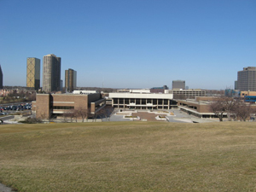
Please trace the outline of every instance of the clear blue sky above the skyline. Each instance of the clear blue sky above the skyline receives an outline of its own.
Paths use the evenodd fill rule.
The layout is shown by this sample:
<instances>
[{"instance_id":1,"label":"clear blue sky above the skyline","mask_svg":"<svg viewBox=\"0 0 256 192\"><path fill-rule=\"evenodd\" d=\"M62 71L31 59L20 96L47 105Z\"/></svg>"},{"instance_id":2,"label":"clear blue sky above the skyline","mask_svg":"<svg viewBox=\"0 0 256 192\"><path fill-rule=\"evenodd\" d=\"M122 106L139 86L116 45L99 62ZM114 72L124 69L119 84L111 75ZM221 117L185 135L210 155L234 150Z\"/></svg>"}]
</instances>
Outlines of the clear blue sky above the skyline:
<instances>
[{"instance_id":1,"label":"clear blue sky above the skyline","mask_svg":"<svg viewBox=\"0 0 256 192\"><path fill-rule=\"evenodd\" d=\"M256 66L255 0L0 0L3 85L26 86L26 57L61 57L78 86L234 88Z\"/></svg>"}]
</instances>

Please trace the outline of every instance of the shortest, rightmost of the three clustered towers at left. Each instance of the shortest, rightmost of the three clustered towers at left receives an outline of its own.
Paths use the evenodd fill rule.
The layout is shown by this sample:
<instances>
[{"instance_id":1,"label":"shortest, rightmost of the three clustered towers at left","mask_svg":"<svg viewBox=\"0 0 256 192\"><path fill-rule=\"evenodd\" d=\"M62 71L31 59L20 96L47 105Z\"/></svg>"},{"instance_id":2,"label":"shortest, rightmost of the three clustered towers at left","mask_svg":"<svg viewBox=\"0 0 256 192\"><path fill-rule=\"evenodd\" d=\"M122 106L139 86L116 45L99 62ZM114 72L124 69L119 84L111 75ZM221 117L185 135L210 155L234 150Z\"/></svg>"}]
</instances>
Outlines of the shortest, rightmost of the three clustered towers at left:
<instances>
[{"instance_id":1,"label":"shortest, rightmost of the three clustered towers at left","mask_svg":"<svg viewBox=\"0 0 256 192\"><path fill-rule=\"evenodd\" d=\"M72 92L77 87L77 72L72 68L65 70L65 89Z\"/></svg>"}]
</instances>

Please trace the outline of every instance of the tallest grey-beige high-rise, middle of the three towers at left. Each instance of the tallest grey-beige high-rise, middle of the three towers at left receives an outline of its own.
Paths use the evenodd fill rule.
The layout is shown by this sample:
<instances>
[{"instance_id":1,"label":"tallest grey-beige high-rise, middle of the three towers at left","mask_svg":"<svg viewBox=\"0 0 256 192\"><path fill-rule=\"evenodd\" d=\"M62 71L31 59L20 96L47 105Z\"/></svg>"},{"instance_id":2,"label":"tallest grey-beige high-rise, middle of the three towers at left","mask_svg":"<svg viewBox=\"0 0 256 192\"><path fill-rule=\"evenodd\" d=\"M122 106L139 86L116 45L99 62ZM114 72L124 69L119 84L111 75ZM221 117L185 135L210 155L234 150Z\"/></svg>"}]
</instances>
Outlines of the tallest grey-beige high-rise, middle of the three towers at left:
<instances>
[{"instance_id":1,"label":"tallest grey-beige high-rise, middle of the three towers at left","mask_svg":"<svg viewBox=\"0 0 256 192\"><path fill-rule=\"evenodd\" d=\"M43 90L61 90L61 57L49 54L43 58Z\"/></svg>"}]
</instances>

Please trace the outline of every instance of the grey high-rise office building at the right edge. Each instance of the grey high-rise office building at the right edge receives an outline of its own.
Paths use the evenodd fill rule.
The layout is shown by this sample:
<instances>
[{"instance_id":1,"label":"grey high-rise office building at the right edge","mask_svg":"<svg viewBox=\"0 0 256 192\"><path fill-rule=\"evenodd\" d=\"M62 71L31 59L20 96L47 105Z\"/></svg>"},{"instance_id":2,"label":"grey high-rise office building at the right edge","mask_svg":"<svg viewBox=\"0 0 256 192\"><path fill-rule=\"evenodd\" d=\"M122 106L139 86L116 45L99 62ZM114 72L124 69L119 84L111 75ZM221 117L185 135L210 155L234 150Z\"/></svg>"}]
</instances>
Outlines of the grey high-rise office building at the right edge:
<instances>
[{"instance_id":1,"label":"grey high-rise office building at the right edge","mask_svg":"<svg viewBox=\"0 0 256 192\"><path fill-rule=\"evenodd\" d=\"M256 91L256 67L243 67L237 72L237 90Z\"/></svg>"}]
</instances>

